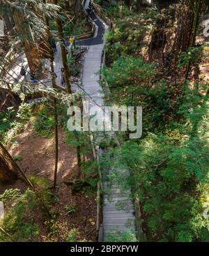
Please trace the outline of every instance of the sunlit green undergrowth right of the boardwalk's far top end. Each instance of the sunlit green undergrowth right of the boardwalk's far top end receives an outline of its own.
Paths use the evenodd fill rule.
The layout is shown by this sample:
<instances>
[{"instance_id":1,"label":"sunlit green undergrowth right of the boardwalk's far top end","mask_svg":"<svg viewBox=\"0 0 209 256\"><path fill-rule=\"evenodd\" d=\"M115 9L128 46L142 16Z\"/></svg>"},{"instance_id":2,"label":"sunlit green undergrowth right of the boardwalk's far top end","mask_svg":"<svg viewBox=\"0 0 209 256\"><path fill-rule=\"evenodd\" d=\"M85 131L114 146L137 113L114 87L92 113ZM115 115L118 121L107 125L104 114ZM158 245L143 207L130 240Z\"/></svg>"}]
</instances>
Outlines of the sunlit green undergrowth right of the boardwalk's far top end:
<instances>
[{"instance_id":1,"label":"sunlit green undergrowth right of the boardwalk's far top end","mask_svg":"<svg viewBox=\"0 0 209 256\"><path fill-rule=\"evenodd\" d=\"M157 10L150 8L134 12L121 6L121 3L108 4L105 13L112 20L114 26L106 34L107 64L113 63L118 57L131 55L139 57L141 48L148 47L143 42L146 31L151 31L157 19Z\"/></svg>"}]
</instances>

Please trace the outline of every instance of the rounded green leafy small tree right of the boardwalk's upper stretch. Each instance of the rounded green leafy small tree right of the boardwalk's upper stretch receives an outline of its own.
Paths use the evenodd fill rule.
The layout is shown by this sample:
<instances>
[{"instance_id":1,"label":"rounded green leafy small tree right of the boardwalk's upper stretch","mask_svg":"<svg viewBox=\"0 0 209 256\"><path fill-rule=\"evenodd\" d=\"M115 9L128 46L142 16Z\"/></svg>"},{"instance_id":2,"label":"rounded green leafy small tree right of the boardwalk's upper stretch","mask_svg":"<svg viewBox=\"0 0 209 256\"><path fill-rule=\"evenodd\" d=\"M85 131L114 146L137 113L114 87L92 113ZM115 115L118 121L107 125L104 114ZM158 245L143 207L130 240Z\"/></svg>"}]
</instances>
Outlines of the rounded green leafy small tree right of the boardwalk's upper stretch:
<instances>
[{"instance_id":1,"label":"rounded green leafy small tree right of the boardwalk's upper stretch","mask_svg":"<svg viewBox=\"0 0 209 256\"><path fill-rule=\"evenodd\" d=\"M153 65L134 57L119 57L110 68L102 70L104 80L114 90L111 99L117 104L137 105L141 90L146 90L155 72Z\"/></svg>"}]
</instances>

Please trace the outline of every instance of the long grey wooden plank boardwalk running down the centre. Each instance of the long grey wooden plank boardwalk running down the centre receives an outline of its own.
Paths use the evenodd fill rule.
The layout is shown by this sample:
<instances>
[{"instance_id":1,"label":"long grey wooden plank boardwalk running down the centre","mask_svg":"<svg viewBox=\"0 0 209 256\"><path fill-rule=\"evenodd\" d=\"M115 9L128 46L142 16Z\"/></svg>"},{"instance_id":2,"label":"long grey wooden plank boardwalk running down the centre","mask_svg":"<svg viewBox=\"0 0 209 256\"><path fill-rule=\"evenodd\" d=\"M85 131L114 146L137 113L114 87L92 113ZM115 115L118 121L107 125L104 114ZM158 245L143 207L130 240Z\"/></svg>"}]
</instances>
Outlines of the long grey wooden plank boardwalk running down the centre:
<instances>
[{"instance_id":1,"label":"long grey wooden plank boardwalk running down the centre","mask_svg":"<svg viewBox=\"0 0 209 256\"><path fill-rule=\"evenodd\" d=\"M93 20L95 17L93 16ZM104 26L102 22L97 19L95 20L97 25L100 27ZM104 31L104 29L103 29ZM88 52L84 57L84 71L82 78L82 85L86 91L85 99L91 101L91 106L101 106L103 109L104 106L104 94L102 93L102 87L100 87L100 66L102 63L102 51L104 48L104 43L98 44L98 41L101 40L102 34L92 39L90 43ZM98 38L101 37L101 38ZM94 40L97 38L98 40ZM85 42L83 42L85 43ZM89 45L89 40L88 40ZM102 117L101 117L102 118ZM101 136L95 138L96 141L100 141ZM108 176L111 171L109 170L106 173L103 173L104 176ZM119 169L118 175L128 176L129 171L124 169ZM117 182L111 181L111 183L103 183L104 187L104 197L103 197L103 225L102 225L102 241L107 241L109 234L112 234L113 231L119 232L135 232L135 216L134 216L134 205L131 197L131 190L127 188L125 191L122 191L118 186ZM123 203L123 207L118 208L118 205Z\"/></svg>"}]
</instances>

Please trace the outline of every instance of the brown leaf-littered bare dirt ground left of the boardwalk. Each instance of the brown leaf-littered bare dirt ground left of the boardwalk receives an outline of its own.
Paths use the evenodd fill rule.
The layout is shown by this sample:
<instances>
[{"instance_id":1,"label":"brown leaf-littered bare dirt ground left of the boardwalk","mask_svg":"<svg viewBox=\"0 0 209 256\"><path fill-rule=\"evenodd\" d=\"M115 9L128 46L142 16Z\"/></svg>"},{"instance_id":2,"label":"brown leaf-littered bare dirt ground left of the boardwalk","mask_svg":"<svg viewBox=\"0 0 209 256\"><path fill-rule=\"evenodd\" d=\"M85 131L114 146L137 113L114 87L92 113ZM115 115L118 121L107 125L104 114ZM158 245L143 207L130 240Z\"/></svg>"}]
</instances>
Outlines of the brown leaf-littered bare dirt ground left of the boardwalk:
<instances>
[{"instance_id":1,"label":"brown leaf-littered bare dirt ground left of the boardwalk","mask_svg":"<svg viewBox=\"0 0 209 256\"><path fill-rule=\"evenodd\" d=\"M29 176L41 176L47 178L51 183L54 178L54 138L44 138L36 134L31 125L26 126L24 131L15 139L17 143L10 148L10 154L21 156L17 161L22 171ZM96 218L96 193L87 195L84 191L72 194L71 187L63 183L63 178L71 176L73 171L77 171L77 152L75 148L65 143L65 134L59 129L59 169L56 183L56 204L54 208L59 212L58 220L68 231L72 228L79 229L81 239L95 241L95 218ZM1 185L0 194L9 188L19 188L24 191L26 185L22 180L17 180L15 184ZM74 202L76 204L75 213L68 214L65 206ZM41 219L41 217L39 218ZM37 220L38 222L42 220ZM39 226L44 226L43 223ZM65 229L65 227L63 227ZM46 235L42 228L42 236ZM42 238L38 238L42 241Z\"/></svg>"}]
</instances>

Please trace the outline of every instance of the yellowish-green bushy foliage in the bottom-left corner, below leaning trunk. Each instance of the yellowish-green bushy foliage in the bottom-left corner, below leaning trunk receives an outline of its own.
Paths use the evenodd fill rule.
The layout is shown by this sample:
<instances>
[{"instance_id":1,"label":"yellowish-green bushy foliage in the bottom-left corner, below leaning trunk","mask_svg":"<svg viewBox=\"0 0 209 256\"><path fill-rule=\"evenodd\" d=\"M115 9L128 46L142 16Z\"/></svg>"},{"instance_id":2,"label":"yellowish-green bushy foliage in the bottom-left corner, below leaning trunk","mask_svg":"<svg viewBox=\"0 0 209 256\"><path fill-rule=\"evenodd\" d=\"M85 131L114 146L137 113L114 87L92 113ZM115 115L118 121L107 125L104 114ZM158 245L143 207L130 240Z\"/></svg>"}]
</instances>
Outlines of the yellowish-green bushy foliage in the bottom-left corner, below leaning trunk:
<instances>
[{"instance_id":1,"label":"yellowish-green bushy foliage in the bottom-left corner, below leaning trunk","mask_svg":"<svg viewBox=\"0 0 209 256\"><path fill-rule=\"evenodd\" d=\"M6 206L11 206L6 211L1 227L10 235L0 232L0 241L35 241L38 235L38 226L34 224L34 211L37 207L35 195L31 190L21 194L20 190L6 190L1 194L1 200Z\"/></svg>"}]
</instances>

